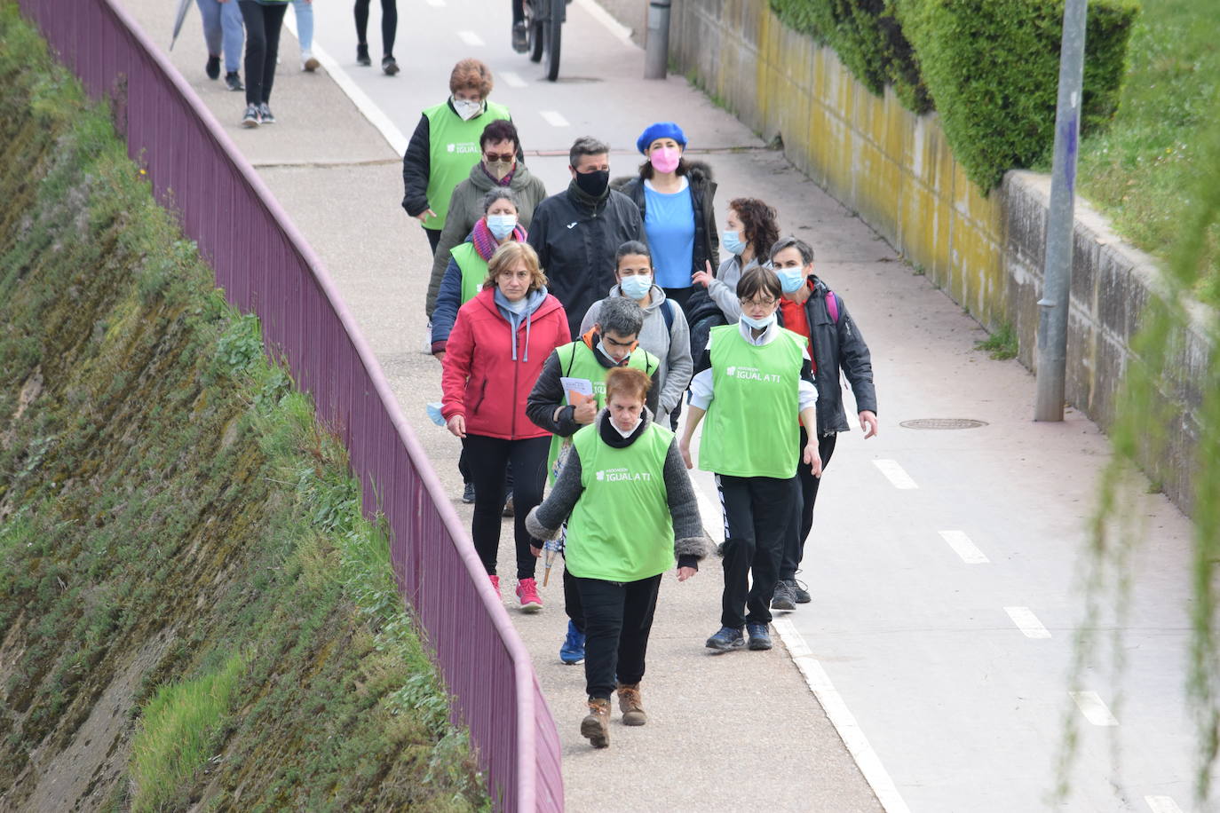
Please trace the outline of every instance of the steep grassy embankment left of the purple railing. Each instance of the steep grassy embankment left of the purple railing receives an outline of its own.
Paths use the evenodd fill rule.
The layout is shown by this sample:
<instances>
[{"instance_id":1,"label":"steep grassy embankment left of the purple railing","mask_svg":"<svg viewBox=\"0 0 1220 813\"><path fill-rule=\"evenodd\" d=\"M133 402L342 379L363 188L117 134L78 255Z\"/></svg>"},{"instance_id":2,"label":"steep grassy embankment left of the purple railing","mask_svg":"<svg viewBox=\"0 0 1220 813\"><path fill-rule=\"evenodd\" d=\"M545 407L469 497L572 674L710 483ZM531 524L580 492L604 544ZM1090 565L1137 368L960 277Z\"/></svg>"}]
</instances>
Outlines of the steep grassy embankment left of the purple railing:
<instances>
[{"instance_id":1,"label":"steep grassy embankment left of the purple railing","mask_svg":"<svg viewBox=\"0 0 1220 813\"><path fill-rule=\"evenodd\" d=\"M342 450L11 2L0 358L0 807L487 807Z\"/></svg>"}]
</instances>

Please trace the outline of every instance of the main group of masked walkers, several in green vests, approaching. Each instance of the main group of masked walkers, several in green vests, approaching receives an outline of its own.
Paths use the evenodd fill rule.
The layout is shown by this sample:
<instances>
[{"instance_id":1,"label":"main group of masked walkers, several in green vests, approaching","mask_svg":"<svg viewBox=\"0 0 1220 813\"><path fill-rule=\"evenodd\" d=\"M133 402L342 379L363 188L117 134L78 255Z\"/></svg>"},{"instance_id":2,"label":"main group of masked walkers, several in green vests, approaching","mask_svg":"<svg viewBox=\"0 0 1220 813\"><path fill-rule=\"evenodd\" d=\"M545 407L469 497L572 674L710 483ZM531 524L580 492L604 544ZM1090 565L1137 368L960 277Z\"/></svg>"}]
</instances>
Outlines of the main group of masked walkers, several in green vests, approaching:
<instances>
[{"instance_id":1,"label":"main group of masked walkers, several in green vests, approaching","mask_svg":"<svg viewBox=\"0 0 1220 813\"><path fill-rule=\"evenodd\" d=\"M604 747L615 695L625 724L647 722L661 574L686 581L710 552L687 472L698 427L725 523L706 647L767 650L771 609L810 601L797 574L849 429L841 377L865 436L877 433L872 367L813 247L780 236L773 207L734 199L717 230L711 168L686 157L678 124L647 127L638 172L614 183L610 147L576 139L567 188L547 196L492 87L477 60L454 67L404 155L403 206L433 250L431 349L475 547L499 592L500 518L514 516L523 612L542 609L538 559L560 549L560 658L584 663L581 731Z\"/></svg>"}]
</instances>

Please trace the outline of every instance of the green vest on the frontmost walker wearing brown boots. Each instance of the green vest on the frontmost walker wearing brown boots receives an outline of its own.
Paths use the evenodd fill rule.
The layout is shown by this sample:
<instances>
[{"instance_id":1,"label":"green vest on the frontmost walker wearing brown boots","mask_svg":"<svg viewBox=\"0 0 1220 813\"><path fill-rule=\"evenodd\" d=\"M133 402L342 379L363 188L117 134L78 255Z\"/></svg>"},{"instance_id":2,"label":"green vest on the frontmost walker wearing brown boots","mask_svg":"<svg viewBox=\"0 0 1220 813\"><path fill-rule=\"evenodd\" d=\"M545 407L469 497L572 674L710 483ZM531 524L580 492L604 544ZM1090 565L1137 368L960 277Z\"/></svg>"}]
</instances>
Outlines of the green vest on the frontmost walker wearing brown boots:
<instances>
[{"instance_id":1,"label":"green vest on the frontmost walker wearing brown boots","mask_svg":"<svg viewBox=\"0 0 1220 813\"><path fill-rule=\"evenodd\" d=\"M673 564L673 517L665 488L672 442L673 433L655 423L625 449L601 440L595 424L572 435L584 488L567 520L564 567L572 575L638 581Z\"/></svg>"}]
</instances>

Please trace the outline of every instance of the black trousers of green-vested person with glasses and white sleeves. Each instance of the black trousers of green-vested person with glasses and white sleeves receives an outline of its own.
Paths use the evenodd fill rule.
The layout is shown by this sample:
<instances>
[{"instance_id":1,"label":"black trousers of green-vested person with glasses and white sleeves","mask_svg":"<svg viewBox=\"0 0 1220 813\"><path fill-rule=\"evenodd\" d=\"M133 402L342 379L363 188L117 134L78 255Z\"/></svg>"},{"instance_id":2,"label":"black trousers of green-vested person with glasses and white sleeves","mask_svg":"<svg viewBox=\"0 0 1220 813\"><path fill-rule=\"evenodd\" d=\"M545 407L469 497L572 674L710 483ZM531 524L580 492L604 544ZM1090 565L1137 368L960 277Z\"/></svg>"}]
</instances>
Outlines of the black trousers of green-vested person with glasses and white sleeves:
<instances>
[{"instance_id":1,"label":"black trousers of green-vested person with glasses and white sleeves","mask_svg":"<svg viewBox=\"0 0 1220 813\"><path fill-rule=\"evenodd\" d=\"M797 478L717 474L716 488L725 511L725 592L720 623L733 629L767 624L784 539L797 512L800 494Z\"/></svg>"}]
</instances>

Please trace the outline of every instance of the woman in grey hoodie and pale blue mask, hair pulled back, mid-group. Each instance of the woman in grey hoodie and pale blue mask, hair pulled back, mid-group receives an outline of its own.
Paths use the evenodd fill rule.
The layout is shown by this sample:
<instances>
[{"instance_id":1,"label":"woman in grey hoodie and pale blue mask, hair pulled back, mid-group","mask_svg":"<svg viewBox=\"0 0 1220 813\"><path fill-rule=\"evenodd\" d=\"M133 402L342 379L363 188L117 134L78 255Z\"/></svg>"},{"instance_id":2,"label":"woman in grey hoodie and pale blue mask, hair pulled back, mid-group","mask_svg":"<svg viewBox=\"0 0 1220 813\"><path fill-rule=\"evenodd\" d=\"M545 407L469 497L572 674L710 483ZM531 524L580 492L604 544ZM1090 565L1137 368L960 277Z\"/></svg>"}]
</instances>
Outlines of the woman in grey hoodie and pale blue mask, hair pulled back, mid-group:
<instances>
[{"instance_id":1,"label":"woman in grey hoodie and pale blue mask, hair pulled back, mid-group","mask_svg":"<svg viewBox=\"0 0 1220 813\"><path fill-rule=\"evenodd\" d=\"M672 429L670 413L682 402L682 394L686 392L691 374L694 372L686 316L654 282L651 255L643 243L632 240L619 246L615 266L619 282L610 289L609 296L633 300L644 311L639 346L661 362L656 375L660 388L656 399L656 423ZM604 301L598 300L589 307L581 321L582 334L598 323Z\"/></svg>"}]
</instances>

